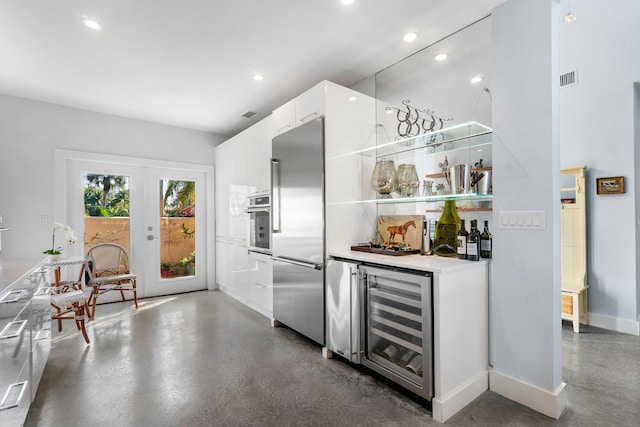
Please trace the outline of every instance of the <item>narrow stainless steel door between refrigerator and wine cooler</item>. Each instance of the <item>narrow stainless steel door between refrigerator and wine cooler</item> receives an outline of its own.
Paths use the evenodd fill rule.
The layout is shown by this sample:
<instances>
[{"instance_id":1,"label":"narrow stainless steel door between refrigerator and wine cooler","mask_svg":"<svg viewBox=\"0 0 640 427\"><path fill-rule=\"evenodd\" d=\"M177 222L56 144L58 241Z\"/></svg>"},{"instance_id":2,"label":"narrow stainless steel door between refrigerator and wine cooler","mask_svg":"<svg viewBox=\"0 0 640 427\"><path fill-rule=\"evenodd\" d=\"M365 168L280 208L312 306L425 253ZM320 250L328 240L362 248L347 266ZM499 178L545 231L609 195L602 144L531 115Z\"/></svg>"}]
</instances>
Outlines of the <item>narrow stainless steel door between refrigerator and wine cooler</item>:
<instances>
[{"instance_id":1,"label":"narrow stainless steel door between refrigerator and wine cooler","mask_svg":"<svg viewBox=\"0 0 640 427\"><path fill-rule=\"evenodd\" d=\"M330 259L326 270L326 347L360 363L358 264Z\"/></svg>"}]
</instances>

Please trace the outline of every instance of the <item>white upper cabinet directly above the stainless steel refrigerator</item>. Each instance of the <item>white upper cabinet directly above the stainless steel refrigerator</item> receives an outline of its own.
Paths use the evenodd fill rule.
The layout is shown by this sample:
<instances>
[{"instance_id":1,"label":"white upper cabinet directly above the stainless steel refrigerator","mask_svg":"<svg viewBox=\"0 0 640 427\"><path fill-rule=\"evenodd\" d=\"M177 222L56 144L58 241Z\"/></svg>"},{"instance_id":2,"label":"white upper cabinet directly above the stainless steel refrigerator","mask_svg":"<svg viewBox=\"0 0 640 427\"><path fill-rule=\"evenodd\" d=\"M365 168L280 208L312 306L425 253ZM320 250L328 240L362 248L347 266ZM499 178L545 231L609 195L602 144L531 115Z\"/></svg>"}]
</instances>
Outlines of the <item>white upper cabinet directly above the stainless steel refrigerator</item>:
<instances>
[{"instance_id":1,"label":"white upper cabinet directly above the stainless steel refrigerator","mask_svg":"<svg viewBox=\"0 0 640 427\"><path fill-rule=\"evenodd\" d=\"M281 107L273 110L271 136L280 135L325 112L325 82L321 82Z\"/></svg>"}]
</instances>

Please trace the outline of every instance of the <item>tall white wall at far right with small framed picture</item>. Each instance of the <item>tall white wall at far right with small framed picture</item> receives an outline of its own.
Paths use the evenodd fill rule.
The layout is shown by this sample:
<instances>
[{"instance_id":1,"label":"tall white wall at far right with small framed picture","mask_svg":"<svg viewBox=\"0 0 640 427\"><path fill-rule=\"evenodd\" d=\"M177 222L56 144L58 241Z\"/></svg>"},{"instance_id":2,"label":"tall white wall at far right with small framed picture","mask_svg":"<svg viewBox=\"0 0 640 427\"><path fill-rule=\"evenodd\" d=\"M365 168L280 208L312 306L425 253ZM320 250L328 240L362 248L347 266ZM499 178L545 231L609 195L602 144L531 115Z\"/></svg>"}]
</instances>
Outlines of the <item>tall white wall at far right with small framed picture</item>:
<instances>
[{"instance_id":1,"label":"tall white wall at far right with small framed picture","mask_svg":"<svg viewBox=\"0 0 640 427\"><path fill-rule=\"evenodd\" d=\"M566 13L566 3L561 7ZM580 0L571 9L577 19L560 28L560 72L577 67L578 84L560 90L560 159L561 166L588 168L589 323L637 335L634 82L640 81L640 2ZM596 194L596 178L620 175L625 194Z\"/></svg>"}]
</instances>

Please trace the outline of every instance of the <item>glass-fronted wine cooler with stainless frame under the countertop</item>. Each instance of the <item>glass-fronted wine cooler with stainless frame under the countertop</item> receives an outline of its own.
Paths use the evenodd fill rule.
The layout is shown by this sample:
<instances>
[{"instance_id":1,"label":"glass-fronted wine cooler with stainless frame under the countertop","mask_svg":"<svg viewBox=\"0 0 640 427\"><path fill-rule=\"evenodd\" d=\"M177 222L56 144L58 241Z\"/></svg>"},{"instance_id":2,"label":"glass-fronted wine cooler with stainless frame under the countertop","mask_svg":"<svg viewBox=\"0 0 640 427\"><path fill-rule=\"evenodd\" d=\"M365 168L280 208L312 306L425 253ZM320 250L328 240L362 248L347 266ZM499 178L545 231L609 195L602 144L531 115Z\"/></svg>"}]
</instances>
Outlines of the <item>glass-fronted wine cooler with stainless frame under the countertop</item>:
<instances>
[{"instance_id":1,"label":"glass-fronted wine cooler with stainless frame under the countertop","mask_svg":"<svg viewBox=\"0 0 640 427\"><path fill-rule=\"evenodd\" d=\"M432 274L360 266L361 363L410 392L433 397Z\"/></svg>"}]
</instances>

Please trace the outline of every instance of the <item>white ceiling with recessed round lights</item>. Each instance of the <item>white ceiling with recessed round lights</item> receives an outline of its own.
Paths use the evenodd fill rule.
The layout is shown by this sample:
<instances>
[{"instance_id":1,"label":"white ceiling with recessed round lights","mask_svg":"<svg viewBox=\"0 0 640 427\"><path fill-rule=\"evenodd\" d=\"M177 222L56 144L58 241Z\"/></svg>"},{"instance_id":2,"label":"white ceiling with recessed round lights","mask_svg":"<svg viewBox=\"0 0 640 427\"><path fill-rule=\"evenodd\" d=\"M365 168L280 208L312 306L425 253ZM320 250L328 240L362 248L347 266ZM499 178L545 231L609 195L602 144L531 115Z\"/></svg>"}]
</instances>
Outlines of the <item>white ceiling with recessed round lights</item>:
<instances>
[{"instance_id":1,"label":"white ceiling with recessed round lights","mask_svg":"<svg viewBox=\"0 0 640 427\"><path fill-rule=\"evenodd\" d=\"M321 80L352 86L504 1L2 1L0 93L231 136Z\"/></svg>"}]
</instances>

